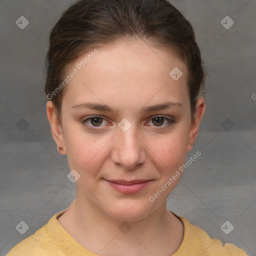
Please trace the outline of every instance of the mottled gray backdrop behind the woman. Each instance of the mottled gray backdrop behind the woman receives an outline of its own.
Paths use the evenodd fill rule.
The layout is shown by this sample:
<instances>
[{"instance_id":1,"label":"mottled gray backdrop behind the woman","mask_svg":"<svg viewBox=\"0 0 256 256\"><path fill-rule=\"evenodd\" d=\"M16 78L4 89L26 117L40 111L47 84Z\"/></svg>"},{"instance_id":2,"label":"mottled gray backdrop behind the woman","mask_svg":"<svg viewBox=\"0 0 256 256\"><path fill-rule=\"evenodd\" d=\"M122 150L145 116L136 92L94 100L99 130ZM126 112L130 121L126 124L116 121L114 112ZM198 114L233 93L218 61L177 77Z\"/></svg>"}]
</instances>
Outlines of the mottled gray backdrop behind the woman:
<instances>
[{"instance_id":1,"label":"mottled gray backdrop behind the woman","mask_svg":"<svg viewBox=\"0 0 256 256\"><path fill-rule=\"evenodd\" d=\"M49 29L71 2L0 0L0 256L75 198L43 95ZM171 2L193 25L208 76L205 115L187 159L201 155L167 207L256 255L256 1ZM15 23L22 15L29 21L24 29ZM234 21L229 29L220 23L225 16ZM15 229L21 220L29 226L24 234ZM220 228L226 220L234 226L229 234Z\"/></svg>"}]
</instances>

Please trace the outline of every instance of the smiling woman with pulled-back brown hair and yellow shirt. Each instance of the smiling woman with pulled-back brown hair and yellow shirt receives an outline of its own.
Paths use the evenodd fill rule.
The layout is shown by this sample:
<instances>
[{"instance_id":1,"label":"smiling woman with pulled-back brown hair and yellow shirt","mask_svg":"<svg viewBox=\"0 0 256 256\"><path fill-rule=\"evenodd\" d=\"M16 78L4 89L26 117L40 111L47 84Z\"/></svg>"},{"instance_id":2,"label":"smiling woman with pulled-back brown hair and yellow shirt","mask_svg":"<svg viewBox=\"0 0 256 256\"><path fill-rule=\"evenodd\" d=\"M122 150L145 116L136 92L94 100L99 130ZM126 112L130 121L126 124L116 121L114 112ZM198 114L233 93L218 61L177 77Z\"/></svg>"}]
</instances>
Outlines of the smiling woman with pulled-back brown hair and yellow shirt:
<instances>
[{"instance_id":1,"label":"smiling woman with pulled-back brown hair and yellow shirt","mask_svg":"<svg viewBox=\"0 0 256 256\"><path fill-rule=\"evenodd\" d=\"M246 255L166 209L204 76L193 28L168 1L71 5L50 34L45 93L76 198L7 256Z\"/></svg>"}]
</instances>

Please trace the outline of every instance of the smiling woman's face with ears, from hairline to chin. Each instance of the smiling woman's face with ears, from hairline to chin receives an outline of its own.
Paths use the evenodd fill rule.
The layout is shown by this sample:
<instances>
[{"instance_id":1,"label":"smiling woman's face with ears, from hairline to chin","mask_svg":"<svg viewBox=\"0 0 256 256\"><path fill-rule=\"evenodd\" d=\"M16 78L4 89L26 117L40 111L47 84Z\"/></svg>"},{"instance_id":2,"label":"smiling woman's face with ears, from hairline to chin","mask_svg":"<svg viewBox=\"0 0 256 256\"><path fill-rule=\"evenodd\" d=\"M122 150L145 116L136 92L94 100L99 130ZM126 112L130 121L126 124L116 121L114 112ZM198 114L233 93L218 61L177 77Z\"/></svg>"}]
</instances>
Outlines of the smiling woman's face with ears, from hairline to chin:
<instances>
[{"instance_id":1,"label":"smiling woman's face with ears, from hairline to chin","mask_svg":"<svg viewBox=\"0 0 256 256\"><path fill-rule=\"evenodd\" d=\"M70 170L79 173L76 184L86 203L120 220L140 219L165 202L181 177L153 196L185 162L203 100L191 122L187 69L167 49L141 41L104 45L90 54L93 49L69 66L67 74L74 68L77 73L65 87L61 124L47 103L53 138ZM178 79L169 75L174 67L182 71ZM118 189L108 182L138 179L150 181Z\"/></svg>"}]
</instances>

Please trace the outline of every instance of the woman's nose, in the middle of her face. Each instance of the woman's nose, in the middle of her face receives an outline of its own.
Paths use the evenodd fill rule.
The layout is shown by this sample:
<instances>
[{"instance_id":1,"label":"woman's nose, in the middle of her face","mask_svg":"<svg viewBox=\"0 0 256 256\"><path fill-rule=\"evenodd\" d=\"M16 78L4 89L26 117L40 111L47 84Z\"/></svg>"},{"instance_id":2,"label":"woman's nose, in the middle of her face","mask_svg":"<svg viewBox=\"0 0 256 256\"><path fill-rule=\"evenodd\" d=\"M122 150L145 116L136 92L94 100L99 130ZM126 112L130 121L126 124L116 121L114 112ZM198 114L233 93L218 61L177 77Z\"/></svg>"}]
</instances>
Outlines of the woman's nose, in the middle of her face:
<instances>
[{"instance_id":1,"label":"woman's nose, in the middle of her face","mask_svg":"<svg viewBox=\"0 0 256 256\"><path fill-rule=\"evenodd\" d=\"M137 133L135 125L131 125L126 131L117 127L117 133L113 137L111 159L125 169L133 169L145 162L146 146Z\"/></svg>"}]
</instances>

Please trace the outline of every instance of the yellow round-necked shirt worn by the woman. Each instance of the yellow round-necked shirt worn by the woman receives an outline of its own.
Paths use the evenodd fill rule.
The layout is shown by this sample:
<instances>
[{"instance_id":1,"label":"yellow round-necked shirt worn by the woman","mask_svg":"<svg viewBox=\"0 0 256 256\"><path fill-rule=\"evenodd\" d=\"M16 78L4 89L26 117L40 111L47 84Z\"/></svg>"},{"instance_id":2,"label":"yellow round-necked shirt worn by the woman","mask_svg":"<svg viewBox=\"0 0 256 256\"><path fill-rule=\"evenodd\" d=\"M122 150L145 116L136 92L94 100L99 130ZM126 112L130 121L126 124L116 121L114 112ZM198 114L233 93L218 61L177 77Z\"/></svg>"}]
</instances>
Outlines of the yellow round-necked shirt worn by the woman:
<instances>
[{"instance_id":1,"label":"yellow round-necked shirt worn by the woman","mask_svg":"<svg viewBox=\"0 0 256 256\"><path fill-rule=\"evenodd\" d=\"M48 223L17 243L6 256L98 255L84 248L60 225L57 217L63 212L64 210L53 215ZM184 235L178 250L172 256L247 256L233 244L226 243L223 247L220 240L211 239L198 226L191 224L184 217L177 217L183 222Z\"/></svg>"}]
</instances>

